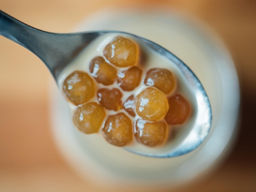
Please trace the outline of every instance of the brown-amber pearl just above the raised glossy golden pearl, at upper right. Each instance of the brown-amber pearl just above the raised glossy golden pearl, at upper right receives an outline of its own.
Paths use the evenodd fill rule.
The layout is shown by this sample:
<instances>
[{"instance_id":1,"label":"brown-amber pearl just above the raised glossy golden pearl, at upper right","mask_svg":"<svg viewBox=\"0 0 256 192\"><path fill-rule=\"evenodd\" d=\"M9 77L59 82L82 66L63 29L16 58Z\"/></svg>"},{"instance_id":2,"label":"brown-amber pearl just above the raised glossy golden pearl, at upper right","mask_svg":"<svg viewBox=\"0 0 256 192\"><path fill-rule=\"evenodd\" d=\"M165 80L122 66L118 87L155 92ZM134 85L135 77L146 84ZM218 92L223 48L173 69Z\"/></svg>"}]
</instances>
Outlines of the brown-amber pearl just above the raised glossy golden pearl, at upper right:
<instances>
[{"instance_id":1,"label":"brown-amber pearl just above the raised glossy golden pearl, at upper right","mask_svg":"<svg viewBox=\"0 0 256 192\"><path fill-rule=\"evenodd\" d=\"M144 84L168 94L175 88L175 79L167 69L153 68L147 72Z\"/></svg>"}]
</instances>

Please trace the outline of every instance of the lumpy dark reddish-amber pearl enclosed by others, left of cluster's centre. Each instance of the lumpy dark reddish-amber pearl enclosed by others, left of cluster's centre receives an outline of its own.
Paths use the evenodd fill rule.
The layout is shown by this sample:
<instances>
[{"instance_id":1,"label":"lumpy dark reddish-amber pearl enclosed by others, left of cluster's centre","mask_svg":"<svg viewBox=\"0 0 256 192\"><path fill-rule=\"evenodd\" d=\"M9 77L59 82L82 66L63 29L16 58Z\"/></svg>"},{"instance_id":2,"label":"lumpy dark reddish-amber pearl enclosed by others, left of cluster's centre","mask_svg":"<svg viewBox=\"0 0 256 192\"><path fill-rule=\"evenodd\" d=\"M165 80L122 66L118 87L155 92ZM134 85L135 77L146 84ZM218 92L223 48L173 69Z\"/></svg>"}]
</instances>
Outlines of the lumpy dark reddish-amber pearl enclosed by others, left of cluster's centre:
<instances>
[{"instance_id":1,"label":"lumpy dark reddish-amber pearl enclosed by others, left of cluster's centre","mask_svg":"<svg viewBox=\"0 0 256 192\"><path fill-rule=\"evenodd\" d=\"M99 103L101 103L101 105L106 109L114 111L119 111L120 109L122 109L122 96L123 94L117 88L103 88L99 89L97 92Z\"/></svg>"}]
</instances>

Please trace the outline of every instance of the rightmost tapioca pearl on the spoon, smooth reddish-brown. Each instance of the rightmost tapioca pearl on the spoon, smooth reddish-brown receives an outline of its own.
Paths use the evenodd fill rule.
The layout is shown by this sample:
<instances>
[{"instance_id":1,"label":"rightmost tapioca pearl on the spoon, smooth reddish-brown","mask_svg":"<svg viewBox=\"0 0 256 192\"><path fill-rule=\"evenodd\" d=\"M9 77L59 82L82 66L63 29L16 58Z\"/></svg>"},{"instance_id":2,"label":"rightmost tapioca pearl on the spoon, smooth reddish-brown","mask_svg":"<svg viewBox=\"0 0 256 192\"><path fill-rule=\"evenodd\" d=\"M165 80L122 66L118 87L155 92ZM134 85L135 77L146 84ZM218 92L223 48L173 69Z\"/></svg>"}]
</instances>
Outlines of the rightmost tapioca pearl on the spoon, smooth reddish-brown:
<instances>
[{"instance_id":1,"label":"rightmost tapioca pearl on the spoon, smooth reddish-brown","mask_svg":"<svg viewBox=\"0 0 256 192\"><path fill-rule=\"evenodd\" d=\"M190 105L184 97L179 94L168 98L169 109L166 113L165 121L169 125L182 124L189 116Z\"/></svg>"}]
</instances>

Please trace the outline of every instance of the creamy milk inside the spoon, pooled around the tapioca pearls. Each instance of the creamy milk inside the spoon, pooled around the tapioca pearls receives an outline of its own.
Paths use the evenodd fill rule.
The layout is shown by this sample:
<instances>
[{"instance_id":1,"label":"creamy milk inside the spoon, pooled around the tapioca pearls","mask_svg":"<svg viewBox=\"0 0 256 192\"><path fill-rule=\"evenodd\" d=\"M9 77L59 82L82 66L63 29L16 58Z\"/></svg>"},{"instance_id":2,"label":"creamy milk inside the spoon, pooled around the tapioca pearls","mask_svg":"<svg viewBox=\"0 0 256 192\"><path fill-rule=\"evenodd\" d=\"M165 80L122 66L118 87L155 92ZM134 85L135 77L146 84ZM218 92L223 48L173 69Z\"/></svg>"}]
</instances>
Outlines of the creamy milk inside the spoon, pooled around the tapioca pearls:
<instances>
[{"instance_id":1,"label":"creamy milk inside the spoon, pooled around the tapioca pearls","mask_svg":"<svg viewBox=\"0 0 256 192\"><path fill-rule=\"evenodd\" d=\"M61 71L61 74L59 74L58 76L58 85L60 89L62 89L64 80L73 71L81 70L90 74L90 70L89 70L90 61L94 57L103 56L103 49L106 47L108 43L110 43L117 36L124 36L136 42L136 39L132 38L131 36L120 34L120 33L110 33L110 34L106 34L98 37L93 42L91 42L90 45L88 45L88 47L86 47L83 51L81 51L81 53L70 63L70 65L68 65L67 67L65 67L65 69L63 69L63 71ZM168 137L171 137L171 139L168 139L168 141L164 143L164 145L161 145L159 147L147 147L145 145L137 143L135 139L133 139L133 142L130 143L129 145L126 145L125 147L130 150L135 150L136 152L143 152L144 154L151 154L151 155L156 153L167 154L176 146L182 143L182 141L186 138L187 134L191 131L193 124L195 123L195 116L197 114L195 96L193 96L193 93L191 92L189 85L187 85L185 77L180 72L178 67L176 67L176 65L172 63L171 60L168 60L164 56L157 54L155 51L153 51L149 47L145 47L145 45L142 45L141 42L137 41L136 43L141 48L141 51L143 52L143 54L146 54L146 63L143 62L143 64L138 64L139 67L141 67L141 69L143 70L141 74L140 85L131 92L122 91L123 93L122 103L124 103L130 95L133 94L136 97L139 93L141 93L144 89L146 89L146 87L148 87L143 83L144 78L146 76L146 72L152 68L157 67L157 68L168 69L169 71L172 72L173 76L175 77L175 81L176 81L175 90L173 90L173 92L171 92L170 94L167 94L166 96L168 97L175 93L181 94L191 104L191 108L193 112L191 116L189 116L188 121L186 121L183 125L168 126L169 127L168 130L170 130L168 131L168 133L170 134L170 136ZM117 74L128 68L129 67L118 68ZM96 85L97 90L104 87L108 89L112 89L115 87L121 90L120 87L117 85L117 81L115 81L115 83L113 83L112 85L108 85L108 86L97 83L96 80L94 80L94 83ZM96 95L94 96L94 98L92 98L88 102L99 103ZM76 106L72 105L71 103L69 103L69 105L71 109L73 110L76 109ZM134 122L136 118L139 118L139 116L136 116L135 118L131 117L124 109L121 109L118 112L115 112L113 110L105 110L105 111L106 111L106 118L103 120L103 122L106 121L109 115L117 114L118 112L124 112L132 120L132 122ZM70 118L72 118L72 116L70 116ZM103 127L101 127L101 129L102 128ZM87 140L90 140L90 142L92 142L94 146L99 145L100 143L99 147L103 148L104 147L102 144L103 135L101 133L101 129L99 131L99 134L91 134L90 136L88 136ZM109 144L105 143L104 145L109 145Z\"/></svg>"}]
</instances>

